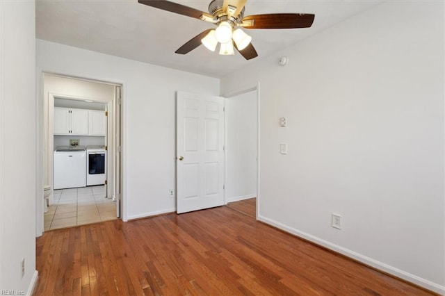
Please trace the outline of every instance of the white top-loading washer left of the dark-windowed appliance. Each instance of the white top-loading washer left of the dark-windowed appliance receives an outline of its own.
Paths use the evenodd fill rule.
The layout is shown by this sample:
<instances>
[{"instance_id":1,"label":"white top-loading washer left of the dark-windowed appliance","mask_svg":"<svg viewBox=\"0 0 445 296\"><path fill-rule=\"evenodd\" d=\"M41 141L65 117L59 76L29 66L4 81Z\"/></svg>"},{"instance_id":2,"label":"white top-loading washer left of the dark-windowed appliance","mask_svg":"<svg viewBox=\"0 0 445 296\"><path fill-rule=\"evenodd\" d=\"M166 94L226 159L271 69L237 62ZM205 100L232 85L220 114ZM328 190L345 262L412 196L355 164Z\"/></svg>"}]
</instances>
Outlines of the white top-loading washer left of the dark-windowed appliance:
<instances>
[{"instance_id":1,"label":"white top-loading washer left of the dark-windowed appliance","mask_svg":"<svg viewBox=\"0 0 445 296\"><path fill-rule=\"evenodd\" d=\"M76 188L85 186L85 147L57 147L54 151L54 189Z\"/></svg>"}]
</instances>

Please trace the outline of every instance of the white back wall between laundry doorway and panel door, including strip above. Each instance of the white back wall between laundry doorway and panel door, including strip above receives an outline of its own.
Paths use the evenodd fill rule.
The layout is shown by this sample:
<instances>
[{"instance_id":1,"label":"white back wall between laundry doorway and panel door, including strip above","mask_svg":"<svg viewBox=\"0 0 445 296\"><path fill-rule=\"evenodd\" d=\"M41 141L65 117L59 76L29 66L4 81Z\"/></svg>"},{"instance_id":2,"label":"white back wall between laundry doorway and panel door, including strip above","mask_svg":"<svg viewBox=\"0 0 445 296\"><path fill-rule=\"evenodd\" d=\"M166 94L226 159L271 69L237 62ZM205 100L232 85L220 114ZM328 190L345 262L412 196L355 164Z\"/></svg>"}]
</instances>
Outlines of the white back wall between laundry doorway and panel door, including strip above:
<instances>
[{"instance_id":1,"label":"white back wall between laundry doorway and panel door, including strip above","mask_svg":"<svg viewBox=\"0 0 445 296\"><path fill-rule=\"evenodd\" d=\"M56 57L56 58L55 58ZM123 218L175 211L177 90L219 94L219 80L37 40L38 72L123 84Z\"/></svg>"}]
</instances>

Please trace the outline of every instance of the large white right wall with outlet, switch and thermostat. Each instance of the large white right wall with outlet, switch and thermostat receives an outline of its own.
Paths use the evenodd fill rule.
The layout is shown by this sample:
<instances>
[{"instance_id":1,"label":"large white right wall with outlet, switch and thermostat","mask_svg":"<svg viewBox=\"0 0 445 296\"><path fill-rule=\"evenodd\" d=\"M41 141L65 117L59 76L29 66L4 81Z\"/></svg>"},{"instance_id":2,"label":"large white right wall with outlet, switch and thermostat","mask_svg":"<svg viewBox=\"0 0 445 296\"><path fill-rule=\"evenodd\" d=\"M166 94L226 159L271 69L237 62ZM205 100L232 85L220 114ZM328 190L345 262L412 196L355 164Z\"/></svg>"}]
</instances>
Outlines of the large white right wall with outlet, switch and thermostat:
<instances>
[{"instance_id":1,"label":"large white right wall with outlet, switch and thermostat","mask_svg":"<svg viewBox=\"0 0 445 296\"><path fill-rule=\"evenodd\" d=\"M444 2L382 3L221 89L257 81L259 219L445 293Z\"/></svg>"}]
</instances>

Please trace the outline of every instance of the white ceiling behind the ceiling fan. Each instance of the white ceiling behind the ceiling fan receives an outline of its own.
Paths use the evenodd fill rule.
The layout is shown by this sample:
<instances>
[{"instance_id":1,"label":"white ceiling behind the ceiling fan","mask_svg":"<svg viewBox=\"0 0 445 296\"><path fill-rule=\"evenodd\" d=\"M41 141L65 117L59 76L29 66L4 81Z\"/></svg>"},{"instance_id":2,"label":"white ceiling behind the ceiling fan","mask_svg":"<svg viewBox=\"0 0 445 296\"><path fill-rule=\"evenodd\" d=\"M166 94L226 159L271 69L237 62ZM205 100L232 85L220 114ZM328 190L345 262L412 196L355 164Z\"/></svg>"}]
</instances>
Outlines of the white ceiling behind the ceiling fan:
<instances>
[{"instance_id":1,"label":"white ceiling behind the ceiling fan","mask_svg":"<svg viewBox=\"0 0 445 296\"><path fill-rule=\"evenodd\" d=\"M208 11L210 0L178 1ZM258 57L220 56L204 46L175 54L182 44L213 24L138 3L137 0L37 0L36 37L104 54L206 76L223 77L361 13L382 0L248 0L244 15L314 13L311 28L245 29ZM376 22L378 19L376 17ZM366 33L366 32L364 32Z\"/></svg>"}]
</instances>

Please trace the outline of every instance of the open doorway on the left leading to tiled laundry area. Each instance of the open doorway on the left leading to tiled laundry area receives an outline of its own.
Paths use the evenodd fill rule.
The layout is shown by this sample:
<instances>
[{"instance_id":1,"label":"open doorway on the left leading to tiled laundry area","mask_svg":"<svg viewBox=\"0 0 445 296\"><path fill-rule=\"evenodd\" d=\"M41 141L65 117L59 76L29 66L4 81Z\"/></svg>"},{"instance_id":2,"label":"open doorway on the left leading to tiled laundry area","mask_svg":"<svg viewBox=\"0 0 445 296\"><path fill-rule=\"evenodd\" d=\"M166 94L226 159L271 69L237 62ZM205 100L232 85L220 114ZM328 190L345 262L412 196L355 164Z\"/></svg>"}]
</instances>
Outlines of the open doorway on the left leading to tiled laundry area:
<instances>
[{"instance_id":1,"label":"open doorway on the left leading to tiled laundry area","mask_svg":"<svg viewBox=\"0 0 445 296\"><path fill-rule=\"evenodd\" d=\"M42 230L120 217L122 86L54 74L43 81L44 184L51 191Z\"/></svg>"}]
</instances>

